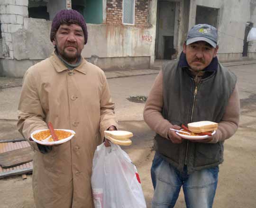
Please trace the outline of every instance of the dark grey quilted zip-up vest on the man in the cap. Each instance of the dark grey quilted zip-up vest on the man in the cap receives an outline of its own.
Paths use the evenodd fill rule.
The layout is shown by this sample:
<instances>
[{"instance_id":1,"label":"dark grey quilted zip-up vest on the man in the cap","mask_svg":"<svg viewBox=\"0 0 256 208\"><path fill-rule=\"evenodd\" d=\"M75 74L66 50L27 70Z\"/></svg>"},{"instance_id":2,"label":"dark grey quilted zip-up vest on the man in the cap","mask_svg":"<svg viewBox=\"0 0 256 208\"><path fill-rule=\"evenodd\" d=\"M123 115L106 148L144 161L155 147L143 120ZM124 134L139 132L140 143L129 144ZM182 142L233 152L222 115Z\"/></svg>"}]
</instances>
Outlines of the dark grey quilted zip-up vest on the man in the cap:
<instances>
[{"instance_id":1,"label":"dark grey quilted zip-up vest on the man in the cap","mask_svg":"<svg viewBox=\"0 0 256 208\"><path fill-rule=\"evenodd\" d=\"M219 123L236 85L236 76L219 64L214 73L201 79L194 99L194 79L189 75L188 70L179 67L178 61L164 66L162 112L164 118L173 125L179 126L195 121ZM223 162L223 142L204 144L186 140L182 144L174 144L157 134L155 150L181 172L185 161L188 173Z\"/></svg>"}]
</instances>

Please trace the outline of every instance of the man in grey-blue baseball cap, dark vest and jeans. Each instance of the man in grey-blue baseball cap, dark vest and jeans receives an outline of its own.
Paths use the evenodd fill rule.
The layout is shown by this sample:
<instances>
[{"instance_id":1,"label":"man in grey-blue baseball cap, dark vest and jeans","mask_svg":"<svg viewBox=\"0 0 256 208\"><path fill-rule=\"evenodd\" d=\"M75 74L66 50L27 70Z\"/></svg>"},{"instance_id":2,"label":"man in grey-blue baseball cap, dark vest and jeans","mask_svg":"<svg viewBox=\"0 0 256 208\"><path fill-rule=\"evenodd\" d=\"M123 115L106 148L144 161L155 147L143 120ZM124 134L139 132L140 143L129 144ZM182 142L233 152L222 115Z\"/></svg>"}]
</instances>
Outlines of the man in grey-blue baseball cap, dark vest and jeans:
<instances>
[{"instance_id":1,"label":"man in grey-blue baseball cap, dark vest and jeans","mask_svg":"<svg viewBox=\"0 0 256 208\"><path fill-rule=\"evenodd\" d=\"M240 112L237 78L219 63L217 43L215 27L193 26L179 60L165 64L148 95L144 119L156 132L152 208L173 208L181 187L187 207L213 205L223 144L238 129ZM206 137L171 130L196 121L218 129Z\"/></svg>"}]
</instances>

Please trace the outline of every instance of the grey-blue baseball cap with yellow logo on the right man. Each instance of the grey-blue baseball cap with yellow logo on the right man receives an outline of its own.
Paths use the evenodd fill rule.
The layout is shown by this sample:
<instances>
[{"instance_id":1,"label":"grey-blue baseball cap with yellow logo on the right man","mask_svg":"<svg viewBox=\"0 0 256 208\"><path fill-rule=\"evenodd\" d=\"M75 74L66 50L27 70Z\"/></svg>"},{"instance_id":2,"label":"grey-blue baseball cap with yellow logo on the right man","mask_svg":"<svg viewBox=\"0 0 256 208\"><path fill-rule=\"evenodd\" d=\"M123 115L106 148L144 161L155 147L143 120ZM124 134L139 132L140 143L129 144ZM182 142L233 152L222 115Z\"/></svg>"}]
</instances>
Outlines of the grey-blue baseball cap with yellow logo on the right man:
<instances>
[{"instance_id":1,"label":"grey-blue baseball cap with yellow logo on the right man","mask_svg":"<svg viewBox=\"0 0 256 208\"><path fill-rule=\"evenodd\" d=\"M217 29L207 24L193 26L188 32L186 44L189 45L197 41L205 41L216 48L218 41Z\"/></svg>"}]
</instances>

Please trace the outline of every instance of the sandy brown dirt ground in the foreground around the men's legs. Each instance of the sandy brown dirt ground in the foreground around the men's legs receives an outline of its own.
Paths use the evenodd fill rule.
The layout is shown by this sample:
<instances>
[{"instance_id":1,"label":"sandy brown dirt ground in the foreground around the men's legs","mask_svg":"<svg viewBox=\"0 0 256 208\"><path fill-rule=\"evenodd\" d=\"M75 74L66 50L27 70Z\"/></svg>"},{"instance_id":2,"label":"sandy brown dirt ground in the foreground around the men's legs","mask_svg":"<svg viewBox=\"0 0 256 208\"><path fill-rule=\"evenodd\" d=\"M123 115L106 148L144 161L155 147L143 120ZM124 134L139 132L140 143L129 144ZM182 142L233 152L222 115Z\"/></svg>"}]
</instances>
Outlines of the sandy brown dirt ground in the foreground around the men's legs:
<instances>
[{"instance_id":1,"label":"sandy brown dirt ground in the foreground around the men's legs","mask_svg":"<svg viewBox=\"0 0 256 208\"><path fill-rule=\"evenodd\" d=\"M256 108L255 108L256 109ZM247 112L248 109L244 111ZM256 207L256 142L253 136L256 112L249 113L250 121L241 126L232 139L225 144L225 161L220 165L219 184L213 208L255 208ZM247 116L244 113L243 116ZM121 128L129 129L136 135L133 145L122 147L137 166L142 182L147 207L151 208L153 187L150 167L154 156L152 132L143 121L121 122ZM1 208L35 208L31 188L32 175L23 180L21 176L0 180ZM183 193L180 193L175 208L185 208Z\"/></svg>"}]
</instances>

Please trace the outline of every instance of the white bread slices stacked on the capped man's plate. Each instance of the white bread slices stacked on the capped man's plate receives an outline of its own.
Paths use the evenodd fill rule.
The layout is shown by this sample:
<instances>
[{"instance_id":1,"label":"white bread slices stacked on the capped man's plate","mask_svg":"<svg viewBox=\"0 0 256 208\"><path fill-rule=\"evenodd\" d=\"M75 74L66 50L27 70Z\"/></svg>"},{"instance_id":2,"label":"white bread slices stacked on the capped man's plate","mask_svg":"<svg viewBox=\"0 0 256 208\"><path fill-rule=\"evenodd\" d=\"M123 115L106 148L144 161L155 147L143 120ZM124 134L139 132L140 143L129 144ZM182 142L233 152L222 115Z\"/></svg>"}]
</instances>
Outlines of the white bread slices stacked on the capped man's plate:
<instances>
[{"instance_id":1,"label":"white bread slices stacked on the capped man's plate","mask_svg":"<svg viewBox=\"0 0 256 208\"><path fill-rule=\"evenodd\" d=\"M198 121L188 123L188 129L194 133L217 130L218 123L212 121Z\"/></svg>"}]
</instances>

